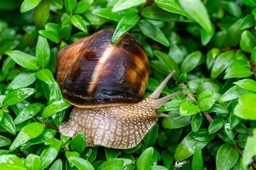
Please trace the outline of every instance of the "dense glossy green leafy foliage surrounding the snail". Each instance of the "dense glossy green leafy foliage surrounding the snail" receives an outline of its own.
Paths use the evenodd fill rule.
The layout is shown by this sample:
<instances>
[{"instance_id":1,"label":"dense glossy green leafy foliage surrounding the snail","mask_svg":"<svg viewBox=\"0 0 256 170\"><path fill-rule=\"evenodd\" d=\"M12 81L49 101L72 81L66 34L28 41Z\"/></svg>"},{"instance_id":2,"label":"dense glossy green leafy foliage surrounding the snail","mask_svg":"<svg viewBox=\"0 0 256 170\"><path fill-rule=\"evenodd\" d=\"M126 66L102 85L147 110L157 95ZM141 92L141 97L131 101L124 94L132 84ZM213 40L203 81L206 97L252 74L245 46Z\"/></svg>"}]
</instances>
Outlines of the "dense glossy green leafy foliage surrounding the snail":
<instances>
[{"instance_id":1,"label":"dense glossy green leafy foliage surrounding the snail","mask_svg":"<svg viewBox=\"0 0 256 170\"><path fill-rule=\"evenodd\" d=\"M255 0L0 1L0 169L255 169ZM150 59L150 94L173 69L158 123L133 149L62 136L72 106L58 51L96 31L126 32Z\"/></svg>"}]
</instances>

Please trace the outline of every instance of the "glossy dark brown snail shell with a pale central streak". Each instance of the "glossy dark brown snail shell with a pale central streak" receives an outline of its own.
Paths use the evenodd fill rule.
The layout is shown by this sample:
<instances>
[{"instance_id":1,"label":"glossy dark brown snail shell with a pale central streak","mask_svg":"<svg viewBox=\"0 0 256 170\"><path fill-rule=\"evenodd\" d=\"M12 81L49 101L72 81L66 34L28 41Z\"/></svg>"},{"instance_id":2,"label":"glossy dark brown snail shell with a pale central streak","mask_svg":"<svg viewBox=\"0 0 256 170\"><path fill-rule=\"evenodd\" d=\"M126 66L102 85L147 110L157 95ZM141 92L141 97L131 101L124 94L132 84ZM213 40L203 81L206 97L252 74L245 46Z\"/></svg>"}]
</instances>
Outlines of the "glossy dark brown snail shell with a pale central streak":
<instances>
[{"instance_id":1,"label":"glossy dark brown snail shell with a pale central streak","mask_svg":"<svg viewBox=\"0 0 256 170\"><path fill-rule=\"evenodd\" d=\"M142 100L149 72L145 51L130 33L112 45L113 34L102 30L59 52L57 82L70 104L92 108Z\"/></svg>"}]
</instances>

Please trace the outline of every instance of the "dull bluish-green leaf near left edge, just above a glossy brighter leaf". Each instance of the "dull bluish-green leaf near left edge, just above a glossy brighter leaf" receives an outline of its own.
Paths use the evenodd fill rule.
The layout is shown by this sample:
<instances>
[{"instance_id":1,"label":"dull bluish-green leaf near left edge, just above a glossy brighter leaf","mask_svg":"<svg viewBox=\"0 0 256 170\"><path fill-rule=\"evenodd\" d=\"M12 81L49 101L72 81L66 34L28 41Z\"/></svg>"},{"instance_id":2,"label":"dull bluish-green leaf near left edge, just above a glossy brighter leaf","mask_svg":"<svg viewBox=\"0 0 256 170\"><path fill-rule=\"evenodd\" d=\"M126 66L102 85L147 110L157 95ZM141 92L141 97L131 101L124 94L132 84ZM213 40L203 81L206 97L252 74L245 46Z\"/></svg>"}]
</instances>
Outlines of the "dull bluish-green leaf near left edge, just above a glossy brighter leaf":
<instances>
[{"instance_id":1,"label":"dull bluish-green leaf near left edge, just above a glossy brighter leaf","mask_svg":"<svg viewBox=\"0 0 256 170\"><path fill-rule=\"evenodd\" d=\"M20 73L6 88L9 91L27 87L33 84L36 81L35 73L34 72L22 72Z\"/></svg>"}]
</instances>

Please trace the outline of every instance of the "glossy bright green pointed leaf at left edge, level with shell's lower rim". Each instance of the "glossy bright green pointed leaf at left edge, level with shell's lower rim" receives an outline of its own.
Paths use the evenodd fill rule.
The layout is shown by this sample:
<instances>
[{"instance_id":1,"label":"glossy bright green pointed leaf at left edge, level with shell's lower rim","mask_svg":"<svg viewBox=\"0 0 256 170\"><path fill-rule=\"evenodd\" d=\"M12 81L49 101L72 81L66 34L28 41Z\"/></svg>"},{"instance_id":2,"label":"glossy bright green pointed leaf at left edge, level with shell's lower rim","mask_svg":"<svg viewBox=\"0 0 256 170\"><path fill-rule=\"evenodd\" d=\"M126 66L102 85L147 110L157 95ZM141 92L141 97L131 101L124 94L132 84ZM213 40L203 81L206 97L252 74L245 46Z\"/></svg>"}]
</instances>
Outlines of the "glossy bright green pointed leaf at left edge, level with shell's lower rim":
<instances>
[{"instance_id":1,"label":"glossy bright green pointed leaf at left edge, level with shell's lower rim","mask_svg":"<svg viewBox=\"0 0 256 170\"><path fill-rule=\"evenodd\" d=\"M26 98L28 98L34 92L35 92L35 89L33 88L20 88L20 89L14 90L6 96L3 102L3 105L4 106L15 105L25 100Z\"/></svg>"}]
</instances>

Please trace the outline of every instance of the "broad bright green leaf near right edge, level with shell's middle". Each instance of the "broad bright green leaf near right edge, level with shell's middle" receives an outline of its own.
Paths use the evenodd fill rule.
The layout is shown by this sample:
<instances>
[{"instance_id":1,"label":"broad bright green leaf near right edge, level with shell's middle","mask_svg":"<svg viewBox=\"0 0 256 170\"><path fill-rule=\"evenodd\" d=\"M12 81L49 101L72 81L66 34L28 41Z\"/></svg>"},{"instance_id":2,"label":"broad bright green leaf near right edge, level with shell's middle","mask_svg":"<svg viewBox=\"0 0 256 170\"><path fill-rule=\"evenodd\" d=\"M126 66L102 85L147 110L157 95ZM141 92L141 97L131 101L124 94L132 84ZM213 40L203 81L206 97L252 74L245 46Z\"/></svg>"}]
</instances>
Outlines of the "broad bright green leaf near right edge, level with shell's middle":
<instances>
[{"instance_id":1,"label":"broad bright green leaf near right edge, level with shell's middle","mask_svg":"<svg viewBox=\"0 0 256 170\"><path fill-rule=\"evenodd\" d=\"M253 74L250 71L250 64L245 60L234 60L226 69L224 79L244 78Z\"/></svg>"}]
</instances>

